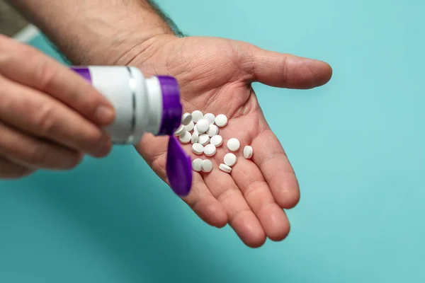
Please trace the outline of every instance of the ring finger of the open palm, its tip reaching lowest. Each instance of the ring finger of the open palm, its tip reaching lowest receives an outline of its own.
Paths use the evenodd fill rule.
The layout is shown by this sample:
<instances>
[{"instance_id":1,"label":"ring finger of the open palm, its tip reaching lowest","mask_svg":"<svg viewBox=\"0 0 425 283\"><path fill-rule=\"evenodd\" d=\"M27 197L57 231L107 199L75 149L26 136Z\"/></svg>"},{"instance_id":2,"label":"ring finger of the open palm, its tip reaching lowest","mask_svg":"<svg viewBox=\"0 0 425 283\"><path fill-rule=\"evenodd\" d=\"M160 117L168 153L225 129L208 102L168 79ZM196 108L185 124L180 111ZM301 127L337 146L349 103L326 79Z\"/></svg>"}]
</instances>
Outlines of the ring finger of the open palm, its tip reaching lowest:
<instances>
[{"instance_id":1,"label":"ring finger of the open palm, its tip reaching lowest","mask_svg":"<svg viewBox=\"0 0 425 283\"><path fill-rule=\"evenodd\" d=\"M212 195L225 207L230 226L246 246L262 246L266 234L232 176L216 169L204 174L204 180Z\"/></svg>"}]
</instances>

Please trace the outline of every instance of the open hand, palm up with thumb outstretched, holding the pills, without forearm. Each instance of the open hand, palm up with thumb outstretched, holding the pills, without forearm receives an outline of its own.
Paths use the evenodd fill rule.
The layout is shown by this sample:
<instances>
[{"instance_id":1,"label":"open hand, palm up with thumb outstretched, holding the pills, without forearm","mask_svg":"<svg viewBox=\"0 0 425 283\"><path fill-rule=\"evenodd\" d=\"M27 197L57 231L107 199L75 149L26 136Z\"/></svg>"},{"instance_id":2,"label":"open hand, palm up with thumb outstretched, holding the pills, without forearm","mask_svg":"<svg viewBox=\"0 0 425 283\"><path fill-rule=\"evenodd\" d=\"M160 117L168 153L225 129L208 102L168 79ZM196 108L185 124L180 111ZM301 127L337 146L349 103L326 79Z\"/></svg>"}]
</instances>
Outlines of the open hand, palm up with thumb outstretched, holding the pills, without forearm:
<instances>
[{"instance_id":1,"label":"open hand, palm up with thumb outstretched, holding the pills, without forearm","mask_svg":"<svg viewBox=\"0 0 425 283\"><path fill-rule=\"evenodd\" d=\"M327 83L331 68L324 62L268 52L246 42L215 37L159 37L132 63L145 74L175 76L184 110L201 110L229 117L220 129L223 144L232 137L251 145L251 160L238 158L232 173L218 170L227 152L220 146L209 158L211 173L193 172L191 193L183 200L212 226L227 223L246 243L259 247L266 237L288 235L283 209L300 199L297 178L283 147L261 112L251 83L282 88L313 88ZM136 146L149 166L166 180L166 138L145 136ZM191 152L187 145L187 152ZM242 156L239 150L236 155ZM193 155L194 156L194 155Z\"/></svg>"}]
</instances>

